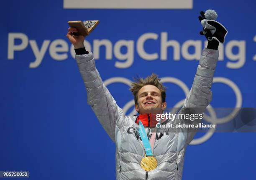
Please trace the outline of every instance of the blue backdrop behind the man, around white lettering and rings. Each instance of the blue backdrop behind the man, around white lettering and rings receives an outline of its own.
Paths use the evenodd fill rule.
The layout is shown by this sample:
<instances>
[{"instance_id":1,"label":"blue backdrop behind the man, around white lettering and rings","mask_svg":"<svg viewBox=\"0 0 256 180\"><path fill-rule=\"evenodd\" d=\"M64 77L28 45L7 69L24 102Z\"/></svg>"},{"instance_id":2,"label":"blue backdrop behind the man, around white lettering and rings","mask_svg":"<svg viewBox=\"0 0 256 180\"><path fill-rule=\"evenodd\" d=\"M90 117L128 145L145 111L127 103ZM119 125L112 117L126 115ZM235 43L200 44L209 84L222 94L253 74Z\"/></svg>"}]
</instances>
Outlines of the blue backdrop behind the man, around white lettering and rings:
<instances>
[{"instance_id":1,"label":"blue backdrop behind the man, around white lettering and rings","mask_svg":"<svg viewBox=\"0 0 256 180\"><path fill-rule=\"evenodd\" d=\"M224 61L218 62L215 76L226 77L238 85L242 107L256 107L253 0L198 0L191 10L72 10L63 9L62 0L2 2L0 171L29 171L31 180L115 179L115 144L87 105L84 84L70 53L67 52L67 60L56 61L47 49L41 65L32 69L29 63L35 57L30 45L15 52L14 60L8 60L8 33L24 33L41 47L44 40L68 42L68 20L100 20L86 39L91 45L94 39L108 39L113 45L121 39L135 41L133 65L125 69L114 67L119 61L114 55L113 60L105 60L105 48L100 48L96 65L102 80L117 76L133 80L137 74L146 77L155 72L159 77L176 77L190 88L198 61L181 56L176 62L172 60L171 48L166 61L143 60L136 52L136 40L144 33L158 34L158 40L148 40L145 49L159 54L161 32L168 32L168 39L181 45L189 39L204 41L205 37L199 35L202 26L197 17L207 9L216 10L218 21L228 29L226 42L246 41L245 65L229 69L226 63L230 60L224 57ZM234 48L233 53L237 52ZM168 107L185 98L177 85L166 86ZM108 88L120 107L133 99L127 85L116 83ZM230 87L214 84L212 92L213 107L234 107L236 97ZM205 143L188 146L183 179L255 179L255 139L255 133L215 133Z\"/></svg>"}]
</instances>

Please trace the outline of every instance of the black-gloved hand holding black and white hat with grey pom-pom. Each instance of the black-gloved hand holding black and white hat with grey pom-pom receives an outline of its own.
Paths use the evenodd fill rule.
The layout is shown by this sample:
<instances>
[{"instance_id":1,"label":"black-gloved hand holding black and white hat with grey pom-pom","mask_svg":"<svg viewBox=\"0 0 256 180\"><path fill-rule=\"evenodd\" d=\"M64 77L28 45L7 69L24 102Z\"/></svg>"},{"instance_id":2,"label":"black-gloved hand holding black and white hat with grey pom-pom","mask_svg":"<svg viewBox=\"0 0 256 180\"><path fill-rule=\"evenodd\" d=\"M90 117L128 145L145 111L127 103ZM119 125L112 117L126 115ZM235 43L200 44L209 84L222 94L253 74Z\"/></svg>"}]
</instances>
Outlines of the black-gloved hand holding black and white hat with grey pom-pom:
<instances>
[{"instance_id":1,"label":"black-gloved hand holding black and white hat with grey pom-pom","mask_svg":"<svg viewBox=\"0 0 256 180\"><path fill-rule=\"evenodd\" d=\"M200 15L201 16L198 18L203 27L200 35L205 35L208 41L215 39L220 43L224 43L228 30L222 24L216 21L218 17L217 13L214 10L207 10L205 13L201 11Z\"/></svg>"}]
</instances>

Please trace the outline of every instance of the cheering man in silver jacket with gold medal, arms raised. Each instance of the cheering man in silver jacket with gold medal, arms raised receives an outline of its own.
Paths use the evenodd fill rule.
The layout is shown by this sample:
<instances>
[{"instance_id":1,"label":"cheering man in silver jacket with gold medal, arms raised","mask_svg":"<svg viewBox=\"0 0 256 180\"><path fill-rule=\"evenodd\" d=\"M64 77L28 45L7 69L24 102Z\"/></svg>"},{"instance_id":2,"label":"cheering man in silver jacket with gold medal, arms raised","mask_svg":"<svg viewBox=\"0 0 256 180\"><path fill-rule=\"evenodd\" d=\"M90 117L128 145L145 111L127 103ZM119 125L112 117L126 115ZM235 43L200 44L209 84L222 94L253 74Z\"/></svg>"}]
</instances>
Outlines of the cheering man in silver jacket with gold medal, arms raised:
<instances>
[{"instance_id":1,"label":"cheering man in silver jacket with gold medal, arms raised","mask_svg":"<svg viewBox=\"0 0 256 180\"><path fill-rule=\"evenodd\" d=\"M203 12L201 15L200 21L205 19ZM212 98L210 88L218 60L220 41L216 37L213 38L214 34L205 27L204 25L201 34L211 40L202 52L195 80L184 101L183 108L200 107L205 109ZM116 179L182 179L184 153L195 133L166 132L161 135L157 134L154 115L162 113L166 109L166 92L160 79L157 75L152 74L146 79L133 82L131 91L139 115L126 116L103 84L95 67L92 52L87 52L84 48L84 37L74 36L73 32L77 32L77 30L69 28L67 37L75 48L77 65L87 90L87 102L116 144ZM221 34L218 28L216 28L215 34L217 33ZM162 123L166 122L168 120Z\"/></svg>"}]
</instances>

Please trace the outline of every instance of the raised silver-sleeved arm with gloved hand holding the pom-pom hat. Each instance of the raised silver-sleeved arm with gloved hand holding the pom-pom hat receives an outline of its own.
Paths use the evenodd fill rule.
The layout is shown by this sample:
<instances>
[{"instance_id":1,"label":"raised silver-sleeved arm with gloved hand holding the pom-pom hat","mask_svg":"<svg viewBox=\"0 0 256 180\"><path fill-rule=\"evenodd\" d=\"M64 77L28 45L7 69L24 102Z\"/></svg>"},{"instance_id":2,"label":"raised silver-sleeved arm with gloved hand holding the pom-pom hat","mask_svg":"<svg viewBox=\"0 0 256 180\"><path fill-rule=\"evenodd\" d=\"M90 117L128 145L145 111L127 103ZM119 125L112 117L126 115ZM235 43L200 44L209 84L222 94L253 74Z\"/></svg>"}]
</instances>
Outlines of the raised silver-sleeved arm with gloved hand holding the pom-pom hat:
<instances>
[{"instance_id":1,"label":"raised silver-sleeved arm with gloved hand holding the pom-pom hat","mask_svg":"<svg viewBox=\"0 0 256 180\"><path fill-rule=\"evenodd\" d=\"M219 42L225 41L225 36L228 31L223 25L218 23L216 20L217 13L213 10L207 10L205 13L200 12L199 20L203 26L203 30L200 32L201 35L205 35L208 40L207 48L202 51L197 72L189 94L184 101L182 113L196 113L201 114L205 111L205 107L209 105L212 100L212 80L217 65L219 51ZM189 108L187 108L189 107ZM187 124L197 124L200 120L186 122ZM189 144L196 133L196 128L187 129L187 140Z\"/></svg>"}]
</instances>

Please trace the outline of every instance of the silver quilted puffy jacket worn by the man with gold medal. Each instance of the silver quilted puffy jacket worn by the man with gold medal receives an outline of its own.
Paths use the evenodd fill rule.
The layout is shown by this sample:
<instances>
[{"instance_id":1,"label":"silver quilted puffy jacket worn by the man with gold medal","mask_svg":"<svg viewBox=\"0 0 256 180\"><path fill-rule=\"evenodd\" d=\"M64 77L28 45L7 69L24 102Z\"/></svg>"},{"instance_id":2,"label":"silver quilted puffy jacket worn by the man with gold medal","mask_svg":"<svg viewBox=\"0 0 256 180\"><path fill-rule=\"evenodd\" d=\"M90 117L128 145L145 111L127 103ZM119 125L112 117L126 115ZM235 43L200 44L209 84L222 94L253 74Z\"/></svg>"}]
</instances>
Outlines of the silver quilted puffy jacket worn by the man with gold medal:
<instances>
[{"instance_id":1,"label":"silver quilted puffy jacket worn by the man with gold medal","mask_svg":"<svg viewBox=\"0 0 256 180\"><path fill-rule=\"evenodd\" d=\"M211 101L212 78L219 51L204 49L197 72L183 107L205 108ZM126 116L103 84L95 67L92 52L76 55L77 65L87 90L87 102L101 125L116 144L117 180L181 180L186 146L195 133L158 133L154 145L157 168L146 172L141 168L145 150L139 138L136 116ZM144 127L148 135L154 128ZM148 132L149 129L149 132Z\"/></svg>"}]
</instances>

